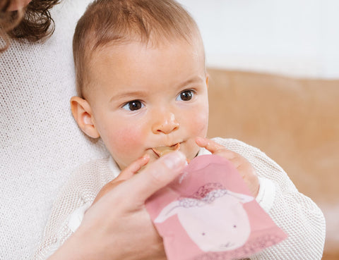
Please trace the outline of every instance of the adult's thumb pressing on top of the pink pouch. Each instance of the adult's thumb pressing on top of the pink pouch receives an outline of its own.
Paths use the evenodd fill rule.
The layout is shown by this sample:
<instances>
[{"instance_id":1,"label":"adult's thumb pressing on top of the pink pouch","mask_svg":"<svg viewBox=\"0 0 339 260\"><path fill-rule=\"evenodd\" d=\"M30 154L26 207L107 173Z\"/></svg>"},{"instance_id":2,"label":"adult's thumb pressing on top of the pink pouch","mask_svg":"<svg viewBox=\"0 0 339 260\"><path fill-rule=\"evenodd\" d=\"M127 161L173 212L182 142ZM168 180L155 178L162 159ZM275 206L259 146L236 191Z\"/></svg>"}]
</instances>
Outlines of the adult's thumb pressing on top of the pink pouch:
<instances>
[{"instance_id":1,"label":"adult's thumb pressing on top of the pink pouch","mask_svg":"<svg viewBox=\"0 0 339 260\"><path fill-rule=\"evenodd\" d=\"M186 156L180 151L173 151L157 159L121 185L126 185L126 190L133 191L128 195L132 202L144 204L148 197L177 178L184 166Z\"/></svg>"}]
</instances>

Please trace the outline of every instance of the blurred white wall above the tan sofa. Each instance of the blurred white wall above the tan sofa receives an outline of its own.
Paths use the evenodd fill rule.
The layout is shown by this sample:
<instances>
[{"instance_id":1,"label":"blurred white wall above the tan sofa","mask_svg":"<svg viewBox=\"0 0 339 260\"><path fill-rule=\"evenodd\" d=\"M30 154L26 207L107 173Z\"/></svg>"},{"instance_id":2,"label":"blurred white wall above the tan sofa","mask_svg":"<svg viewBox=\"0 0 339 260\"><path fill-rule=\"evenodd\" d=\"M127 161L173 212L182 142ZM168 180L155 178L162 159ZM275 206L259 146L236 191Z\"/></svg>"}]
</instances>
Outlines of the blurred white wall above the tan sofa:
<instances>
[{"instance_id":1,"label":"blurred white wall above the tan sofa","mask_svg":"<svg viewBox=\"0 0 339 260\"><path fill-rule=\"evenodd\" d=\"M339 78L339 0L179 0L208 66Z\"/></svg>"}]
</instances>

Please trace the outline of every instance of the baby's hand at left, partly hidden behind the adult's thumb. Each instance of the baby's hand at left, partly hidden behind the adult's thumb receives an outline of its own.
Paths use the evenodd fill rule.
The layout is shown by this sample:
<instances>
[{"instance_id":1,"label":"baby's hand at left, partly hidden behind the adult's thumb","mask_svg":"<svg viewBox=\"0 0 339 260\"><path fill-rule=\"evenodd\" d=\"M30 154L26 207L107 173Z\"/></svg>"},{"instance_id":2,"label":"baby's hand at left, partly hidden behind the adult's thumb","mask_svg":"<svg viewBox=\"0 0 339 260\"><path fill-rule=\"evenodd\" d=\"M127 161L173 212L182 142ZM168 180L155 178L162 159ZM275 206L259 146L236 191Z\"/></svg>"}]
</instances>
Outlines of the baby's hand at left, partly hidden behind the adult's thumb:
<instances>
[{"instance_id":1,"label":"baby's hand at left, partly hidden behind the adult's thumb","mask_svg":"<svg viewBox=\"0 0 339 260\"><path fill-rule=\"evenodd\" d=\"M102 187L100 192L97 194L97 197L95 197L93 204L95 204L95 202L97 202L107 192L113 190L114 187L117 187L117 185L119 185L121 182L124 182L125 180L131 178L134 174L138 173L138 171L140 171L140 169L145 166L148 161L150 161L150 156L147 154L136 161L133 161L133 163L126 167L124 171L121 171L117 178L111 180L104 187Z\"/></svg>"}]
</instances>

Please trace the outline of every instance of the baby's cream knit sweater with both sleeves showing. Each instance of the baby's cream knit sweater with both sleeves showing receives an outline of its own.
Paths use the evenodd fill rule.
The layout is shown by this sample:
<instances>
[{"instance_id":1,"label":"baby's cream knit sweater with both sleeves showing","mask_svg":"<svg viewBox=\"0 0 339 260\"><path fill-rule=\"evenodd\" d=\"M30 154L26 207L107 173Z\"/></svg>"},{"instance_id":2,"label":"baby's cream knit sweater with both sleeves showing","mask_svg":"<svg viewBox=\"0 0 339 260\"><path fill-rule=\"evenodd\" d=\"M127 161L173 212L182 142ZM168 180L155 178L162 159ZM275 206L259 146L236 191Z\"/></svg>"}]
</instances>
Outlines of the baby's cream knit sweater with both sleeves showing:
<instances>
[{"instance_id":1,"label":"baby's cream knit sweater with both sleeves showing","mask_svg":"<svg viewBox=\"0 0 339 260\"><path fill-rule=\"evenodd\" d=\"M259 149L238 140L215 138L227 149L242 154L258 173L260 190L256 200L288 238L251 257L252 260L319 260L325 241L323 213L308 197L299 193L277 163ZM208 154L201 149L199 155ZM65 185L47 223L44 240L35 259L46 259L78 228L85 209L103 185L119 175L112 158L85 163Z\"/></svg>"}]
</instances>

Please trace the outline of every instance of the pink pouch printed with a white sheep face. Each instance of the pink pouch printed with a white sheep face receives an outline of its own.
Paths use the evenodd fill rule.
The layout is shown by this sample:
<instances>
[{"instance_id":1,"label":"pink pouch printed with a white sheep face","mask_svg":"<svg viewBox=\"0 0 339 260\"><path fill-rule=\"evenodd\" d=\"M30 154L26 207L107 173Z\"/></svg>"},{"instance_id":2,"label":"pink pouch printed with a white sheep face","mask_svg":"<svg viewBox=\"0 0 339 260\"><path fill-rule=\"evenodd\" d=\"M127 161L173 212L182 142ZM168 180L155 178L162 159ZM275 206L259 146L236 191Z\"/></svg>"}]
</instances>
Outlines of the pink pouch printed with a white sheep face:
<instances>
[{"instance_id":1,"label":"pink pouch printed with a white sheep face","mask_svg":"<svg viewBox=\"0 0 339 260\"><path fill-rule=\"evenodd\" d=\"M145 206L169 260L241 259L287 237L232 163L216 155L193 159Z\"/></svg>"}]
</instances>

